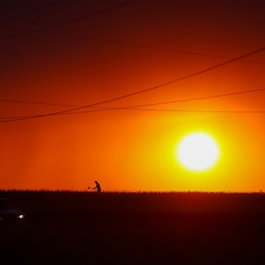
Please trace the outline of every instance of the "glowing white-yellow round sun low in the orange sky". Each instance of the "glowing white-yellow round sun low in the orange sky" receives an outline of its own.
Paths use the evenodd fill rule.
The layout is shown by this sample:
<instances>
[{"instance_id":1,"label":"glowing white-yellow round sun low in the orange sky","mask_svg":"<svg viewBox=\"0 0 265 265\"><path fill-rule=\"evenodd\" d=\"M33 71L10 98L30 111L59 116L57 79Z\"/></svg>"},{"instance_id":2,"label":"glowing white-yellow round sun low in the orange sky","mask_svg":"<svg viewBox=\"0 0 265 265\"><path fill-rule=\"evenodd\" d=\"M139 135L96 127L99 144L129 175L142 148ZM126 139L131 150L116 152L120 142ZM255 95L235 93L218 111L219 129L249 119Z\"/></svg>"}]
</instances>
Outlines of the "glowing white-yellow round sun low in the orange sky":
<instances>
[{"instance_id":1,"label":"glowing white-yellow round sun low in the orange sky","mask_svg":"<svg viewBox=\"0 0 265 265\"><path fill-rule=\"evenodd\" d=\"M219 150L216 142L205 133L186 136L176 148L176 158L193 171L206 170L217 161Z\"/></svg>"}]
</instances>

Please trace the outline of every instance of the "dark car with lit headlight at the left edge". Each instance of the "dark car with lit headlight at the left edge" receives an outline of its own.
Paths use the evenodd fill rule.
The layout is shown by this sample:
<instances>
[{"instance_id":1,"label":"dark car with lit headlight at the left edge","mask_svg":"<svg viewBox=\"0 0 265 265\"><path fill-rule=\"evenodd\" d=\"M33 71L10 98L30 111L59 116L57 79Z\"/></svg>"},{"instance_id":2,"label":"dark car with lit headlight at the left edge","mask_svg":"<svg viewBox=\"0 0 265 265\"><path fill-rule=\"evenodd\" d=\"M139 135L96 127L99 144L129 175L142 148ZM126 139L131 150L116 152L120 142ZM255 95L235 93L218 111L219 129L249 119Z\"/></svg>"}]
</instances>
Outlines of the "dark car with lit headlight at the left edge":
<instances>
[{"instance_id":1,"label":"dark car with lit headlight at the left edge","mask_svg":"<svg viewBox=\"0 0 265 265\"><path fill-rule=\"evenodd\" d=\"M0 222L1 220L23 219L25 214L15 207L8 199L0 198Z\"/></svg>"}]
</instances>

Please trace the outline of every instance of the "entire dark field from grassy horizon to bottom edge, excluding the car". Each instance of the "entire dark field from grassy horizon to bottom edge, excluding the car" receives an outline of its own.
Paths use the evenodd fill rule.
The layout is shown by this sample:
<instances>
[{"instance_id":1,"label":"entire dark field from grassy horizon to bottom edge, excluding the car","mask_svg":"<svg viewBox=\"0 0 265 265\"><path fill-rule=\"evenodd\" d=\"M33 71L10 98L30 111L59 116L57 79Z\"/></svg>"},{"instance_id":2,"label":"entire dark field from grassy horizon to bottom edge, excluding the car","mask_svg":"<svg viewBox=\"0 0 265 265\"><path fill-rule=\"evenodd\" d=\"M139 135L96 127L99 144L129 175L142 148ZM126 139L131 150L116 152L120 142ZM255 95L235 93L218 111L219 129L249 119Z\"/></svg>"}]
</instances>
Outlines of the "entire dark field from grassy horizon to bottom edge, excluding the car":
<instances>
[{"instance_id":1,"label":"entire dark field from grassy horizon to bottom edge, excluding the car","mask_svg":"<svg viewBox=\"0 0 265 265\"><path fill-rule=\"evenodd\" d=\"M1 264L265 264L265 194L0 190ZM4 259L2 259L4 260Z\"/></svg>"}]
</instances>

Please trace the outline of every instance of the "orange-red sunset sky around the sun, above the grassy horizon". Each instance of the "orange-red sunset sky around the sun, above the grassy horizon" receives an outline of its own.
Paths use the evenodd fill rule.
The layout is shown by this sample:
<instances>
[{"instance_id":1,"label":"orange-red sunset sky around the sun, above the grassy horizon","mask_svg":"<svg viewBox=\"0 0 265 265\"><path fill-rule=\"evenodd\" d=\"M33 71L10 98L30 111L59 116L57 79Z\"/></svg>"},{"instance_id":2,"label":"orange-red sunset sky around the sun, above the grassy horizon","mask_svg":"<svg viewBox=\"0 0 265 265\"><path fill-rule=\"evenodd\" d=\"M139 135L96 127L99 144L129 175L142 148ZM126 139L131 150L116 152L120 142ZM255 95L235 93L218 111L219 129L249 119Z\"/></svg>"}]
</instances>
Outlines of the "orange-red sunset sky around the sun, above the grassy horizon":
<instances>
[{"instance_id":1,"label":"orange-red sunset sky around the sun, above the grassy horizon","mask_svg":"<svg viewBox=\"0 0 265 265\"><path fill-rule=\"evenodd\" d=\"M0 188L265 191L264 10L261 0L1 1ZM175 157L198 131L219 147L206 171Z\"/></svg>"}]
</instances>

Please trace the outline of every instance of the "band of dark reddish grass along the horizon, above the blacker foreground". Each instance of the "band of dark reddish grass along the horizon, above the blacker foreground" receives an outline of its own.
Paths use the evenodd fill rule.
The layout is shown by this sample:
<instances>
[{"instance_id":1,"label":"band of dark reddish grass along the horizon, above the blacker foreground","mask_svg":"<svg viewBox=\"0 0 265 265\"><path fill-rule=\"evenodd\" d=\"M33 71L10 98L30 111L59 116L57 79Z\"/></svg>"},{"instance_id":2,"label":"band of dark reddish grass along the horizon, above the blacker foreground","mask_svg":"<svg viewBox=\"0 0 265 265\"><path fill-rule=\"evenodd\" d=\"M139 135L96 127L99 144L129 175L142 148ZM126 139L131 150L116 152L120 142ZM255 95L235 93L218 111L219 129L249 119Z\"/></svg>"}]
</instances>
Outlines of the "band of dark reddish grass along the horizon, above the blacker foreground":
<instances>
[{"instance_id":1,"label":"band of dark reddish grass along the horizon, above the blacker foreground","mask_svg":"<svg viewBox=\"0 0 265 265\"><path fill-rule=\"evenodd\" d=\"M265 213L260 192L0 190L27 213Z\"/></svg>"}]
</instances>

